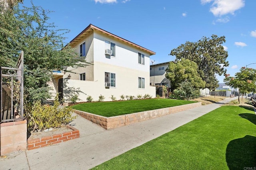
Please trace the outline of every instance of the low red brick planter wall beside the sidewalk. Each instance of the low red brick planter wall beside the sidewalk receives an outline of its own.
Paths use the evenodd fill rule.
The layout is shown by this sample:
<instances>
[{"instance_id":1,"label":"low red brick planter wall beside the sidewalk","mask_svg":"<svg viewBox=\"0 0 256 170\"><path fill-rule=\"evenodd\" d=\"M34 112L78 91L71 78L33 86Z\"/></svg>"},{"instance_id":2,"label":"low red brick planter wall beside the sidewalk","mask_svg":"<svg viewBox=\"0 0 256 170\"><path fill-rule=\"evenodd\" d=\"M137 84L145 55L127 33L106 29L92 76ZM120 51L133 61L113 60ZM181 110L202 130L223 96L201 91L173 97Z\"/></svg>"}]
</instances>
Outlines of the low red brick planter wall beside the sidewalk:
<instances>
[{"instance_id":1,"label":"low red brick planter wall beside the sidewalk","mask_svg":"<svg viewBox=\"0 0 256 170\"><path fill-rule=\"evenodd\" d=\"M60 134L54 134L51 136L46 136L42 138L28 139L28 150L42 148L44 146L50 146L52 144L57 144L60 142L65 142L71 139L79 138L79 130L67 125L68 128L72 129L71 132L64 132Z\"/></svg>"}]
</instances>

